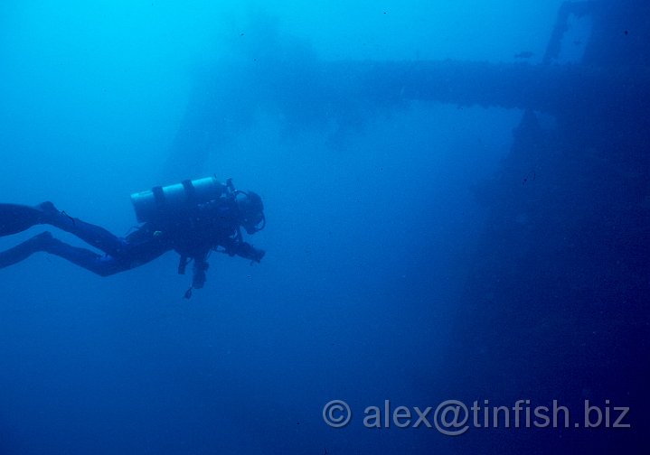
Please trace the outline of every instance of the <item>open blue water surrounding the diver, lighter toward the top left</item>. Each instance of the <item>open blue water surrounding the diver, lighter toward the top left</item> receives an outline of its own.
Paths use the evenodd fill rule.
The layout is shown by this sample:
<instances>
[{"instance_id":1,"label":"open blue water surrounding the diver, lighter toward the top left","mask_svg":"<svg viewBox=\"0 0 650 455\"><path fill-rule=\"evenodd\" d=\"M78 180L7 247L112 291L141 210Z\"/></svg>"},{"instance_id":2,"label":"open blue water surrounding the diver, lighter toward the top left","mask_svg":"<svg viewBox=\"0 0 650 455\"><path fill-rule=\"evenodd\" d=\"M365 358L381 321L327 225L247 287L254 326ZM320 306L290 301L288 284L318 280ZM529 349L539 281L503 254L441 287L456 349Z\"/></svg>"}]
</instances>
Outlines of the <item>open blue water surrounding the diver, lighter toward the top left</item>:
<instances>
[{"instance_id":1,"label":"open blue water surrounding the diver, lighter toward the top left","mask_svg":"<svg viewBox=\"0 0 650 455\"><path fill-rule=\"evenodd\" d=\"M477 193L523 111L351 111L318 75L346 60L539 63L560 5L3 2L1 201L52 200L123 236L130 193L214 174L258 192L268 227L250 237L261 264L212 255L189 301L174 253L106 278L46 254L0 270L0 454L464 453L435 429L366 428L363 411L473 394L445 395L494 221ZM353 409L345 428L324 422L334 399Z\"/></svg>"}]
</instances>

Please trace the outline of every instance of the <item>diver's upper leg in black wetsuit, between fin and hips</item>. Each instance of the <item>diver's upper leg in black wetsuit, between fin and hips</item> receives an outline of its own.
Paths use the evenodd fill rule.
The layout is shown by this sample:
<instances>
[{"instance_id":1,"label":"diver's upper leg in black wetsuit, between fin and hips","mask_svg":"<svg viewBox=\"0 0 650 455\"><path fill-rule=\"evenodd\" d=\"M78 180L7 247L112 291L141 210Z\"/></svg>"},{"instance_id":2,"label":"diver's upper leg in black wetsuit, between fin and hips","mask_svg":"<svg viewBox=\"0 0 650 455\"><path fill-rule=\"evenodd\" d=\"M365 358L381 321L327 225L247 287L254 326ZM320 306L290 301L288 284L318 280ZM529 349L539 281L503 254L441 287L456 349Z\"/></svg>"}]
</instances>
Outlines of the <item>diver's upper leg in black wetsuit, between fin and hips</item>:
<instances>
[{"instance_id":1,"label":"diver's upper leg in black wetsuit, between fin and hips","mask_svg":"<svg viewBox=\"0 0 650 455\"><path fill-rule=\"evenodd\" d=\"M56 209L54 204L49 201L40 204L38 209L41 210L39 223L49 224L55 228L70 232L90 246L108 253L108 255L119 256L123 254L124 240L111 234L105 228L81 221L79 218L72 218L67 213Z\"/></svg>"}]
</instances>

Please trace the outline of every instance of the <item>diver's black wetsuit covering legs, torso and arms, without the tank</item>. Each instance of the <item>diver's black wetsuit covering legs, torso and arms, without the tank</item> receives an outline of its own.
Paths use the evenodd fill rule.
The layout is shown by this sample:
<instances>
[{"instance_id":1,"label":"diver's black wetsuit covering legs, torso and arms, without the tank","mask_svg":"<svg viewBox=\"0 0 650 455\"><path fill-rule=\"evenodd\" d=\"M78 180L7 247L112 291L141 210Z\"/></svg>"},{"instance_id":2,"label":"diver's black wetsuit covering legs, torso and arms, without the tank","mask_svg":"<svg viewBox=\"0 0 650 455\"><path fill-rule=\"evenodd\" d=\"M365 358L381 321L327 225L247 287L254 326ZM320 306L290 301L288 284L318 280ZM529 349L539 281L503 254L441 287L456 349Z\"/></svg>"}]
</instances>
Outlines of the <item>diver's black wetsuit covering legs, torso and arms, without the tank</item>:
<instances>
[{"instance_id":1,"label":"diver's black wetsuit covering legs, torso and arms, without the tank","mask_svg":"<svg viewBox=\"0 0 650 455\"><path fill-rule=\"evenodd\" d=\"M207 256L214 249L228 255L259 262L264 251L242 240L235 200L220 198L174 214L165 214L147 222L127 235L117 237L105 228L71 218L45 202L38 207L0 204L0 236L14 234L37 224L49 224L70 232L101 255L79 246L71 246L43 232L18 246L0 252L0 268L14 265L29 255L45 251L61 256L95 274L108 276L146 264L167 251L181 255L179 273L193 261L193 287L205 281Z\"/></svg>"}]
</instances>

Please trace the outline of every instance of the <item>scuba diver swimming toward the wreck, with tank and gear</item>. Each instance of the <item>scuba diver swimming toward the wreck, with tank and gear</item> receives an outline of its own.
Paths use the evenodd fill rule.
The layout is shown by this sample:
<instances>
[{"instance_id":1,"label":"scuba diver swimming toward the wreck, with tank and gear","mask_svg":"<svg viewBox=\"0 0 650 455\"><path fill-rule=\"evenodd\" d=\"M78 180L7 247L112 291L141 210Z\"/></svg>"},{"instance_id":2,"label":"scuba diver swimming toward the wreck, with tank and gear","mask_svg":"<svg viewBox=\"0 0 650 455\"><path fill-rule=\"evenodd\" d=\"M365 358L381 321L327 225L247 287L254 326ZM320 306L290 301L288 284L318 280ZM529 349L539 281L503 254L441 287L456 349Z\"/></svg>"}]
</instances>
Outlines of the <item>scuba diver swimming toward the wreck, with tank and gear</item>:
<instances>
[{"instance_id":1,"label":"scuba diver swimming toward the wreck, with tank and gear","mask_svg":"<svg viewBox=\"0 0 650 455\"><path fill-rule=\"evenodd\" d=\"M0 237L35 225L47 224L70 232L94 246L100 255L71 246L45 231L0 252L0 268L23 261L44 251L61 256L75 265L101 276L117 274L144 265L167 251L181 255L178 273L193 261L193 289L205 283L208 256L212 251L239 255L258 262L265 252L243 240L241 228L250 235L266 226L264 206L252 191L235 190L231 179L225 184L215 177L154 187L131 195L137 221L141 223L127 237L117 237L105 228L72 218L50 201L35 207L0 203Z\"/></svg>"}]
</instances>

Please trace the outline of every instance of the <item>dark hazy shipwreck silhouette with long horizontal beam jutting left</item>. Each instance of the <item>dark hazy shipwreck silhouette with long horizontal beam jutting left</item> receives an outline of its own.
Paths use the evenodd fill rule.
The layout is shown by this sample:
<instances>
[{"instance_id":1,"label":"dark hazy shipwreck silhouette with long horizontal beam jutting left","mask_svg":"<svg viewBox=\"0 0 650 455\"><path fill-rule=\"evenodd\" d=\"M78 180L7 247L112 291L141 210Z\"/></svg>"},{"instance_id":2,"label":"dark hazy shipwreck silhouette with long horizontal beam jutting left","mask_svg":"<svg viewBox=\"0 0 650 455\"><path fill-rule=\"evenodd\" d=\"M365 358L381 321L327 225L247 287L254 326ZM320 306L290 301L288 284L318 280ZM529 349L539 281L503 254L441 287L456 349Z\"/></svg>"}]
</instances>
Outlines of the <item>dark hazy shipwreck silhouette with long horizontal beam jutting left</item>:
<instances>
[{"instance_id":1,"label":"dark hazy shipwreck silhouette with long horizontal beam jutting left","mask_svg":"<svg viewBox=\"0 0 650 455\"><path fill-rule=\"evenodd\" d=\"M580 60L562 63L570 18L589 19L589 40ZM488 218L442 398L557 399L576 412L609 400L632 408L632 428L471 432L444 448L637 453L650 428L648 24L645 0L565 2L539 64L306 59L268 79L250 63L236 85L232 75L199 84L169 166L196 173L232 128L252 123L256 103L305 122L334 116L342 128L410 100L523 109L512 150L480 191Z\"/></svg>"}]
</instances>

